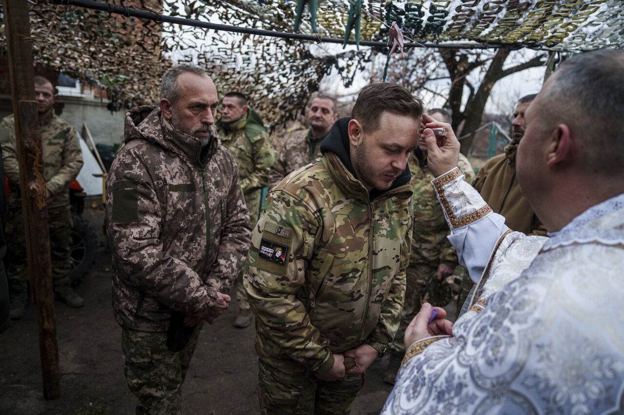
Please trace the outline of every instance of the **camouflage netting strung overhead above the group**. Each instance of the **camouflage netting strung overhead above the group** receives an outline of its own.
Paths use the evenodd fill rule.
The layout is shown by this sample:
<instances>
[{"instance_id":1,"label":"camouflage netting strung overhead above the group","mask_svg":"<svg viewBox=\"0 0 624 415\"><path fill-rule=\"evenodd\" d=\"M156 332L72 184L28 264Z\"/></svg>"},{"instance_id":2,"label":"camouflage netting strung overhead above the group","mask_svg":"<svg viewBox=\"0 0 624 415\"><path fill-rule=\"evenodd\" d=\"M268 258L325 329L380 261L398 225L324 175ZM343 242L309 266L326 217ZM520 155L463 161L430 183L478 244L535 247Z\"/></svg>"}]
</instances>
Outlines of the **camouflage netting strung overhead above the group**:
<instances>
[{"instance_id":1,"label":"camouflage netting strung overhead above the group","mask_svg":"<svg viewBox=\"0 0 624 415\"><path fill-rule=\"evenodd\" d=\"M116 2L169 16L281 32L293 32L298 3L310 3L310 10L316 10L316 24L309 9L304 10L299 31L313 34L315 26L323 37L343 38L349 24L354 39L359 20L361 40L386 41L389 26L396 21L406 42L560 52L624 47L624 2L620 0ZM349 17L350 8L361 12ZM221 92L247 93L265 121L277 125L296 117L329 71L337 70L349 85L368 70L372 54L388 53L379 47L340 52L312 42L231 35L119 15L102 21L105 12L77 6L61 6L45 37L55 9L43 0L31 2L36 61L109 88L114 108L155 100L159 79L173 60L205 66Z\"/></svg>"}]
</instances>

